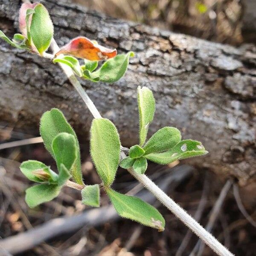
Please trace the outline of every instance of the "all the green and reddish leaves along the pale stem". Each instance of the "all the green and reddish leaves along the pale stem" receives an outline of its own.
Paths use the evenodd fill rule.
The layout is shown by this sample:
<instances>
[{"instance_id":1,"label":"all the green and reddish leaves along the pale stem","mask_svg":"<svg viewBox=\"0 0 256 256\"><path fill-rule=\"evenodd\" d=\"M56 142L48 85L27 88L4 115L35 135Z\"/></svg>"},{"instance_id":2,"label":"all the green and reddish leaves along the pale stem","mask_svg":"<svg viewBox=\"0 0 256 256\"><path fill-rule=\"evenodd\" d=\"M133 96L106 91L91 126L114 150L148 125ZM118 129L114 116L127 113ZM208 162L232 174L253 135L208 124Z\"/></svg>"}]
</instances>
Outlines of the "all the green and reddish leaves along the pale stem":
<instances>
[{"instance_id":1,"label":"all the green and reddish leaves along the pale stem","mask_svg":"<svg viewBox=\"0 0 256 256\"><path fill-rule=\"evenodd\" d=\"M0 38L19 49L29 50L44 56L53 38L53 24L47 9L41 3L24 3L20 8L19 26L21 34L10 40L1 30ZM74 73L93 82L113 83L124 76L129 58L133 52L116 55L116 49L109 49L85 37L72 39L62 47L53 59L72 68ZM82 58L80 65L77 58ZM98 67L99 61L104 61ZM154 119L155 99L147 87L138 87L137 103L139 112L139 145L130 148L128 157L120 161L121 143L115 125L108 119L93 119L90 128L90 154L96 171L103 181L103 188L118 214L162 231L165 220L157 209L140 198L123 195L111 188L118 166L144 174L148 160L159 164L207 154L204 146L195 140L181 140L180 131L164 127L148 140L148 127ZM79 142L75 131L58 109L47 111L41 117L40 134L45 148L55 159L58 173L50 166L36 160L20 165L20 170L36 183L26 189L26 203L29 207L57 197L61 188L72 179L84 188L81 190L82 203L99 207L99 184L85 186L81 174ZM71 181L69 181L70 183Z\"/></svg>"}]
</instances>

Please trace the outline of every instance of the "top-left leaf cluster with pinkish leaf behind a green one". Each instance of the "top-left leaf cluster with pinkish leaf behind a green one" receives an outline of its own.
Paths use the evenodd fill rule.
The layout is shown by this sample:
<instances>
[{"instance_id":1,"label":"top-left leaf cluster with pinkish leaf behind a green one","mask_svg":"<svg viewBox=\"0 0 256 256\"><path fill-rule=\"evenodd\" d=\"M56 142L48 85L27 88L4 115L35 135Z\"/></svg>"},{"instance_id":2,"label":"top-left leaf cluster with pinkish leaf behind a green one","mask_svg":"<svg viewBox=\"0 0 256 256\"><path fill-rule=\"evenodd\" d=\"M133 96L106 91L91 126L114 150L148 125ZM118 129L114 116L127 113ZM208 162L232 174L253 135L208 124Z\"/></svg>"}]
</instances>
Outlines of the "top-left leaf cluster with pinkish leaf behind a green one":
<instances>
[{"instance_id":1,"label":"top-left leaf cluster with pinkish leaf behind a green one","mask_svg":"<svg viewBox=\"0 0 256 256\"><path fill-rule=\"evenodd\" d=\"M0 31L0 37L13 47L26 49L43 55L53 37L52 20L47 9L40 3L23 3L20 8L19 26L21 34L12 41Z\"/></svg>"}]
</instances>

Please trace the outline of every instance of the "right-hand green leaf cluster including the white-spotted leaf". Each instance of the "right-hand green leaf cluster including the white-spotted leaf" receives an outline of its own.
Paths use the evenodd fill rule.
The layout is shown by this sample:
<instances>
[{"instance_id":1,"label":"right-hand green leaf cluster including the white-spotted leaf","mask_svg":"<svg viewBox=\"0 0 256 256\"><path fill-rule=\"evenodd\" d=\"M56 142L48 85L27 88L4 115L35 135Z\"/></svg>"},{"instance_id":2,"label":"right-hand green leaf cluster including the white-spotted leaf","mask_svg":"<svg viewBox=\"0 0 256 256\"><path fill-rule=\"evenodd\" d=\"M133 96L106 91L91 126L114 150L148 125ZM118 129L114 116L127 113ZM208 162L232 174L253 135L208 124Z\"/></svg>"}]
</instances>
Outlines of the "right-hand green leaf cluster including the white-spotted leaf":
<instances>
[{"instance_id":1,"label":"right-hand green leaf cluster including the white-spotted leaf","mask_svg":"<svg viewBox=\"0 0 256 256\"><path fill-rule=\"evenodd\" d=\"M148 126L153 121L155 100L151 90L138 87L139 138L140 145L134 145L129 150L129 156L120 162L122 168L133 168L135 172L144 174L150 160L159 164L168 164L176 160L207 154L201 142L196 140L181 140L180 131L174 127L159 129L145 142Z\"/></svg>"}]
</instances>

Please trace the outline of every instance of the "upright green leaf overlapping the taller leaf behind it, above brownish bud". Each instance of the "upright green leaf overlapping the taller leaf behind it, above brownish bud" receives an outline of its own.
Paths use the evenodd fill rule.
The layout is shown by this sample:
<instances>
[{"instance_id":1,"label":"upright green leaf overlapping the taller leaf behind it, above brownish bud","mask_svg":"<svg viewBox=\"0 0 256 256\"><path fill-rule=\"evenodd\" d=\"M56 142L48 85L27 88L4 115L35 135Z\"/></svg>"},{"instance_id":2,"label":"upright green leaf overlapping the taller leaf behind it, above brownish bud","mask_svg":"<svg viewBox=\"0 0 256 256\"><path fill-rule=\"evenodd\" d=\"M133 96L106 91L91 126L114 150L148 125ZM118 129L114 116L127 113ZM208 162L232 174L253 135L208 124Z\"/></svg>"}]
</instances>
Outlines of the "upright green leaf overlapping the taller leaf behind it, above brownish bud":
<instances>
[{"instance_id":1,"label":"upright green leaf overlapping the taller leaf behind it, above brownish bud","mask_svg":"<svg viewBox=\"0 0 256 256\"><path fill-rule=\"evenodd\" d=\"M75 136L66 132L58 134L52 141L52 151L55 156L58 171L61 170L61 163L63 163L69 171L77 157L78 148L76 147Z\"/></svg>"}]
</instances>

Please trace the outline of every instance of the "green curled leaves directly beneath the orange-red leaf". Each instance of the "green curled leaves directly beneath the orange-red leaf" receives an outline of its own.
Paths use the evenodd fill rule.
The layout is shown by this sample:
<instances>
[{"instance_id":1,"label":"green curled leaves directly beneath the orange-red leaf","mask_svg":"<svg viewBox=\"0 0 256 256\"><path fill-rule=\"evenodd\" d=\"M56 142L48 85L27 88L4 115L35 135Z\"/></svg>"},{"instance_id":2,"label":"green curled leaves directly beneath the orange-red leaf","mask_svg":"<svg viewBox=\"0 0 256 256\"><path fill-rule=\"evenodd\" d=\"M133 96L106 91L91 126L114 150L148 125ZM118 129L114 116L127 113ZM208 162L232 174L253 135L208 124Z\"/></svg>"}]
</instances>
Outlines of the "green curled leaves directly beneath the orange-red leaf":
<instances>
[{"instance_id":1,"label":"green curled leaves directly beneath the orange-red leaf","mask_svg":"<svg viewBox=\"0 0 256 256\"><path fill-rule=\"evenodd\" d=\"M88 61L84 59L84 65L80 66L79 61L73 56L61 56L53 60L54 63L61 62L73 69L77 76L88 79L93 82L113 83L118 81L126 72L130 56L133 52L119 54L114 58L105 61L101 67L98 67L98 61Z\"/></svg>"}]
</instances>

